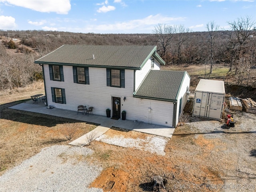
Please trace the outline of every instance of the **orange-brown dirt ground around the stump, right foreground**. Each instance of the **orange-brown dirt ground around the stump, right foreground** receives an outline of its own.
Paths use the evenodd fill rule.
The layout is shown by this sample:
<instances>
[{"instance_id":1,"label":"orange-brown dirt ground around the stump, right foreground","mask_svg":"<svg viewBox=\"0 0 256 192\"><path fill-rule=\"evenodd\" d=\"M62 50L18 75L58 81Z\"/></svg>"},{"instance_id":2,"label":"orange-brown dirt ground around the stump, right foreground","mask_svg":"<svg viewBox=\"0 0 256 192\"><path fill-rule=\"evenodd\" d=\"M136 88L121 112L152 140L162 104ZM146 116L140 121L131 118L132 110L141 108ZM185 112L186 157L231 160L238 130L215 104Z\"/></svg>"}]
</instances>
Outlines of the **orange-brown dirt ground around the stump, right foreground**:
<instances>
[{"instance_id":1,"label":"orange-brown dirt ground around the stump, right foreground","mask_svg":"<svg viewBox=\"0 0 256 192\"><path fill-rule=\"evenodd\" d=\"M89 147L100 153L90 161L106 168L91 186L105 192L153 191L152 178L160 175L166 187L160 191L255 191L256 117L244 112L234 117L238 122L229 129L191 117L176 128L165 156L94 141Z\"/></svg>"}]
</instances>

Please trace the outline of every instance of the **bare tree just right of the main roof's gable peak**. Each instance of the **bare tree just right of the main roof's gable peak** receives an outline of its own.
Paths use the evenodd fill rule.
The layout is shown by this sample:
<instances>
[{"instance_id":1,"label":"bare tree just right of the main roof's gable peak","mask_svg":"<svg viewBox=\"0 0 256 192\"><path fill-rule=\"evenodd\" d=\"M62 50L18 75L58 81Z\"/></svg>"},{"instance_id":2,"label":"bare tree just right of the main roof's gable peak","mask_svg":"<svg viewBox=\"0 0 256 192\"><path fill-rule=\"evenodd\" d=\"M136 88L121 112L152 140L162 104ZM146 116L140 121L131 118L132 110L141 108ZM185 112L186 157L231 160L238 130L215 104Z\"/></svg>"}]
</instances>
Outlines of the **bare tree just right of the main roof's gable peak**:
<instances>
[{"instance_id":1,"label":"bare tree just right of the main roof's gable peak","mask_svg":"<svg viewBox=\"0 0 256 192\"><path fill-rule=\"evenodd\" d=\"M167 63L168 59L166 58L167 50L172 42L174 35L174 28L165 24L158 24L153 30L153 33L156 38L156 42L159 44L160 54L164 56L164 60Z\"/></svg>"}]
</instances>

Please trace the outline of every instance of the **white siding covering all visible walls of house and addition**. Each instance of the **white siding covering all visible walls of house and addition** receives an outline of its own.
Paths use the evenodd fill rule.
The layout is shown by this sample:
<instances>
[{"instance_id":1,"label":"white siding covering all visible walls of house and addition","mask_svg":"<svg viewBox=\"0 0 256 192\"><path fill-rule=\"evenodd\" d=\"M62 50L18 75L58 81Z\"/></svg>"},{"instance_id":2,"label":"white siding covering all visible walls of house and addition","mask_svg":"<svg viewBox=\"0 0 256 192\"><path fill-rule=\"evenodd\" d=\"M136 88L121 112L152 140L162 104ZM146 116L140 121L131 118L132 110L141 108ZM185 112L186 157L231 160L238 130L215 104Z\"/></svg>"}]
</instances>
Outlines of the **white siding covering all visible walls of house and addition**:
<instances>
[{"instance_id":1,"label":"white siding covering all visible walls of house and addition","mask_svg":"<svg viewBox=\"0 0 256 192\"><path fill-rule=\"evenodd\" d=\"M150 69L151 58L146 62L142 70L136 71L136 88L138 88ZM154 70L159 69L160 65L155 60ZM78 105L85 105L87 108L92 106L94 107L94 114L106 116L107 108L113 110L112 97L120 97L121 112L122 110L126 111L127 120L138 120L145 123L172 127L174 111L174 104L172 102L133 97L134 70L125 70L125 88L107 86L106 68L89 67L88 70L90 74L90 84L74 83L72 66L63 66L65 82L51 81L48 65L44 64L48 105L73 111L77 110ZM184 82L189 85L187 78ZM66 104L52 102L51 87L65 89ZM187 86L184 88L186 89ZM181 95L183 96L184 93L182 89L179 97L181 97ZM123 100L124 97L126 97L125 101ZM182 102L185 101L182 100Z\"/></svg>"}]
</instances>

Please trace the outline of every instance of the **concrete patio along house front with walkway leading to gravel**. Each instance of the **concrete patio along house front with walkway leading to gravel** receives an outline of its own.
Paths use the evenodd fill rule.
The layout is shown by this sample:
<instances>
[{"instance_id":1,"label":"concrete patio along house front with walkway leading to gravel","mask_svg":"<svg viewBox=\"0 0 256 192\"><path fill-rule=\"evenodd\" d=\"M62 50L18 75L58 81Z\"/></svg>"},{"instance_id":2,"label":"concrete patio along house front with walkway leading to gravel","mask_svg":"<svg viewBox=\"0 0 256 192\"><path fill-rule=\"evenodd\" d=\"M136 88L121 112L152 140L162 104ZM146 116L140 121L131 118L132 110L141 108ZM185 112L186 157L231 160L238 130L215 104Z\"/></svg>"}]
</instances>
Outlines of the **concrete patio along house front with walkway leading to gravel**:
<instances>
[{"instance_id":1,"label":"concrete patio along house front with walkway leading to gravel","mask_svg":"<svg viewBox=\"0 0 256 192\"><path fill-rule=\"evenodd\" d=\"M166 126L148 124L144 122L138 122L138 121L134 122L132 120L122 120L122 119L114 120L111 118L107 118L106 116L101 116L96 114L94 115L92 114L83 115L82 113L77 114L77 111L72 111L72 110L64 110L59 108L48 109L46 108L43 102L38 102L38 104L33 104L32 100L26 101L24 103L20 103L10 108L100 124L100 126L92 130L92 132L94 132L95 138L104 134L111 127L124 128L128 130L133 130L133 131L138 131L138 132L143 132L143 133L148 133L148 134L153 134L158 136L164 136L168 138L172 137L172 134L175 129L175 128L170 128ZM87 134L91 134L91 132ZM76 145L76 146L84 146L88 144L87 140L88 140L87 135L84 135L72 141L70 144Z\"/></svg>"}]
</instances>

